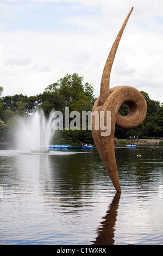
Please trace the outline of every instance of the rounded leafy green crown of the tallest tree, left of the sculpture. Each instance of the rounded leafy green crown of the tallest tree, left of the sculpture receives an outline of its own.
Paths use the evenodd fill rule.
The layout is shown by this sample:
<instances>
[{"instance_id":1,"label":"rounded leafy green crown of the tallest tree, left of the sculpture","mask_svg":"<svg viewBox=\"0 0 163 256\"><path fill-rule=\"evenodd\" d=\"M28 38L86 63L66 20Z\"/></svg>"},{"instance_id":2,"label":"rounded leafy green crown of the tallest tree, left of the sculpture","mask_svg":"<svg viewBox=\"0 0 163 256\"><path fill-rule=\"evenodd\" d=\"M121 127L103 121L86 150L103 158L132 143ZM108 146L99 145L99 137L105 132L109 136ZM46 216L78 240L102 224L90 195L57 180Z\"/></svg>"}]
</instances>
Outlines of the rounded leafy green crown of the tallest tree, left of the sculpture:
<instances>
[{"instance_id":1,"label":"rounded leafy green crown of the tallest tree, left of the sculpture","mask_svg":"<svg viewBox=\"0 0 163 256\"><path fill-rule=\"evenodd\" d=\"M64 112L64 107L69 107L70 112L89 111L95 101L93 87L89 83L83 84L83 77L77 73L67 74L56 83L50 84L37 99L46 113L52 109Z\"/></svg>"}]
</instances>

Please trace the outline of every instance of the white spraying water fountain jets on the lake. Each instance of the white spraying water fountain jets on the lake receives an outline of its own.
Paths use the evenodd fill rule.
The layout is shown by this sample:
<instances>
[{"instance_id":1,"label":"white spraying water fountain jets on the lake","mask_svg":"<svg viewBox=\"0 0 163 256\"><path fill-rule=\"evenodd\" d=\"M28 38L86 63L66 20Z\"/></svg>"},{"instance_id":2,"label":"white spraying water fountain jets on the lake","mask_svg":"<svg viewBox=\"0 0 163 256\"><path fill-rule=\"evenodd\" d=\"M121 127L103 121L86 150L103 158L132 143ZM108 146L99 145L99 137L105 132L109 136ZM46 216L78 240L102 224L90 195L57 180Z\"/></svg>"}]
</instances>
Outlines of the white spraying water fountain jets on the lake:
<instances>
[{"instance_id":1,"label":"white spraying water fountain jets on the lake","mask_svg":"<svg viewBox=\"0 0 163 256\"><path fill-rule=\"evenodd\" d=\"M54 132L52 121L53 112L46 118L42 110L20 117L16 132L17 150L48 153Z\"/></svg>"}]
</instances>

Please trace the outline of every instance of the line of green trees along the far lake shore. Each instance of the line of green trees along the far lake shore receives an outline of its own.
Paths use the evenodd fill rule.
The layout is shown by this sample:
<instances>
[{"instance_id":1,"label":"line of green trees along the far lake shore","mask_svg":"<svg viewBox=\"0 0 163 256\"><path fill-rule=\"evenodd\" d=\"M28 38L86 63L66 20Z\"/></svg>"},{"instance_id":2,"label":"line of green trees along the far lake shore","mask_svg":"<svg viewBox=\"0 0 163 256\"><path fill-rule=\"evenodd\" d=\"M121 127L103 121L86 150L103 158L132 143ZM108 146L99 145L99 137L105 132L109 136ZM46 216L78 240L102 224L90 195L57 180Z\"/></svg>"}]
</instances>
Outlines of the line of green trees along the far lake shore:
<instances>
[{"instance_id":1,"label":"line of green trees along the far lake shore","mask_svg":"<svg viewBox=\"0 0 163 256\"><path fill-rule=\"evenodd\" d=\"M93 94L93 86L86 82L77 73L67 74L59 81L47 86L43 93L35 96L15 94L2 96L3 88L0 87L0 138L10 142L16 129L17 117L32 114L36 109L42 109L48 117L52 110L64 113L65 107L70 112L92 111L96 97ZM134 129L115 129L116 138L163 137L163 105L159 101L149 98L148 93L141 92L147 102L147 115L141 125ZM129 113L128 106L123 104L119 110L121 115ZM54 132L52 144L93 143L92 133L89 130L58 130Z\"/></svg>"}]
</instances>

